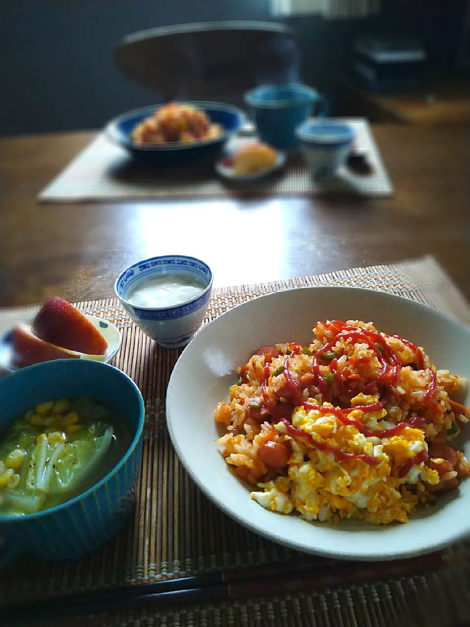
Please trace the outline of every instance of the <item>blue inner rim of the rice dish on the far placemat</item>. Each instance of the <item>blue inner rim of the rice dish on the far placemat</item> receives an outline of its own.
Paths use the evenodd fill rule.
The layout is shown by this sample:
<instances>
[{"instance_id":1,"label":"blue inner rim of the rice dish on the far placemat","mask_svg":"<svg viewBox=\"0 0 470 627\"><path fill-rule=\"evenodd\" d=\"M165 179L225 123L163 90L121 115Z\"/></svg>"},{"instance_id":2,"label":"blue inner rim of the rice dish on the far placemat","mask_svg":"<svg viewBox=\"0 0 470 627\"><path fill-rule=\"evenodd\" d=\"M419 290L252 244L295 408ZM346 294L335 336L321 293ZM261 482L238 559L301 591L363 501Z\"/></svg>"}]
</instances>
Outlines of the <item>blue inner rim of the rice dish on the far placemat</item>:
<instances>
[{"instance_id":1,"label":"blue inner rim of the rice dish on the far placemat","mask_svg":"<svg viewBox=\"0 0 470 627\"><path fill-rule=\"evenodd\" d=\"M147 107L140 107L137 109L132 109L125 113L121 113L120 115L113 118L105 125L105 128L103 129L103 133L105 134L105 137L107 137L107 139L109 139L114 144L125 146L132 150L143 150L147 152L165 152L165 151L173 152L174 150L189 150L191 148L194 149L199 146L207 146L211 144L217 144L217 142L223 142L229 137L231 137L232 135L234 135L236 132L238 132L238 130L246 122L246 115L243 113L241 109L239 109L238 107L234 107L233 105L226 105L223 102L211 102L210 100L174 100L172 102L180 102L185 105L194 105L195 107L201 108L204 111L215 110L215 111L228 111L228 112L234 113L234 115L238 119L238 125L236 126L236 129L225 131L222 133L222 135L219 135L219 137L201 140L199 142L194 142L192 144L183 144L182 142L169 142L168 144L162 144L162 145L160 144L139 145L139 144L134 144L134 142L132 142L132 140L129 139L128 135L125 135L123 137L122 133L117 130L120 122L124 122L130 117L134 117L140 114L143 117L145 115L150 115L157 108L163 106L162 104L157 104L157 105L147 105Z\"/></svg>"}]
</instances>

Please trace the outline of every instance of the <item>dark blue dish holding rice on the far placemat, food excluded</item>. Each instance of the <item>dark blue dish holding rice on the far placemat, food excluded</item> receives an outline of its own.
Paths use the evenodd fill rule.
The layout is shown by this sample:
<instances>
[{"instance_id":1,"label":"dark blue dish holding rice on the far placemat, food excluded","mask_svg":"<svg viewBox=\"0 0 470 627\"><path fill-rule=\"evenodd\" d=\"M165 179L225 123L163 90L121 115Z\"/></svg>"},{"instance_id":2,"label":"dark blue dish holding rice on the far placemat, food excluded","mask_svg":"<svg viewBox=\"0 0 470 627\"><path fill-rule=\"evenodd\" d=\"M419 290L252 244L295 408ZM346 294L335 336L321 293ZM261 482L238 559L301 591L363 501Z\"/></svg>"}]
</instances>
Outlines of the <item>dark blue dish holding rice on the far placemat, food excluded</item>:
<instances>
[{"instance_id":1,"label":"dark blue dish holding rice on the far placemat, food excluded","mask_svg":"<svg viewBox=\"0 0 470 627\"><path fill-rule=\"evenodd\" d=\"M128 150L133 157L145 159L145 161L159 164L180 164L188 161L199 161L209 157L217 158L221 154L226 142L245 123L243 112L231 105L221 102L188 102L187 104L205 111L213 124L220 124L224 129L221 137L216 139L202 140L194 144L183 144L174 142L170 144L148 144L137 145L130 134L134 127L145 118L152 115L159 105L151 105L140 109L134 109L127 113L122 113L111 120L105 127L105 136L115 144Z\"/></svg>"}]
</instances>

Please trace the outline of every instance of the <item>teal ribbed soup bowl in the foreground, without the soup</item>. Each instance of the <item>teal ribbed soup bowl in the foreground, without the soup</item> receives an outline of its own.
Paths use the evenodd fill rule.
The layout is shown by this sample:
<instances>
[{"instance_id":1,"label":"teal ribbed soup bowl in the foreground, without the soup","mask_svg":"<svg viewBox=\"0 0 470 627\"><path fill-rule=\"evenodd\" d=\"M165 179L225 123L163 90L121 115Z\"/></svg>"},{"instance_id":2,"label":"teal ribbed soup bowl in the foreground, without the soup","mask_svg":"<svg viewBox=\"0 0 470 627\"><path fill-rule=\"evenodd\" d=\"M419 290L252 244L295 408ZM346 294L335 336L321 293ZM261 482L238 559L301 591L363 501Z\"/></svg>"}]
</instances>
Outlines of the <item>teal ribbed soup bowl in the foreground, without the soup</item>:
<instances>
[{"instance_id":1,"label":"teal ribbed soup bowl in the foreground, without the soup","mask_svg":"<svg viewBox=\"0 0 470 627\"><path fill-rule=\"evenodd\" d=\"M113 366L61 359L0 379L0 444L11 423L38 403L83 395L104 401L122 420L126 436L116 463L97 483L61 505L35 514L1 514L0 566L23 552L70 559L93 551L117 533L132 509L142 458L144 402L135 383Z\"/></svg>"}]
</instances>

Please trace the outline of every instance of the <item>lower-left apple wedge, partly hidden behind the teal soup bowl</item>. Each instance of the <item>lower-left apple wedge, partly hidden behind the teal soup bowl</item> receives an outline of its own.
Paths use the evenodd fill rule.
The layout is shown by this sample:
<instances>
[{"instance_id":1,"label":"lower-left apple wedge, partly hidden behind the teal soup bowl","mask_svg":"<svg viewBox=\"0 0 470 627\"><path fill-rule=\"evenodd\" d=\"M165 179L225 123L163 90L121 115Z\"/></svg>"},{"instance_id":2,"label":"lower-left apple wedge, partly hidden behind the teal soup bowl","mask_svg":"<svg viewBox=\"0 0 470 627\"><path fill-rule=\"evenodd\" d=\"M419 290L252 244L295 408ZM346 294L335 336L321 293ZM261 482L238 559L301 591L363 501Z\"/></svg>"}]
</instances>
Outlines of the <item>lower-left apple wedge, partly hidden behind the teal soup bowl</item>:
<instances>
[{"instance_id":1,"label":"lower-left apple wedge, partly hidden behind the teal soup bowl","mask_svg":"<svg viewBox=\"0 0 470 627\"><path fill-rule=\"evenodd\" d=\"M11 334L13 366L24 368L52 359L80 359L80 354L44 342L33 334L27 324L18 325Z\"/></svg>"}]
</instances>

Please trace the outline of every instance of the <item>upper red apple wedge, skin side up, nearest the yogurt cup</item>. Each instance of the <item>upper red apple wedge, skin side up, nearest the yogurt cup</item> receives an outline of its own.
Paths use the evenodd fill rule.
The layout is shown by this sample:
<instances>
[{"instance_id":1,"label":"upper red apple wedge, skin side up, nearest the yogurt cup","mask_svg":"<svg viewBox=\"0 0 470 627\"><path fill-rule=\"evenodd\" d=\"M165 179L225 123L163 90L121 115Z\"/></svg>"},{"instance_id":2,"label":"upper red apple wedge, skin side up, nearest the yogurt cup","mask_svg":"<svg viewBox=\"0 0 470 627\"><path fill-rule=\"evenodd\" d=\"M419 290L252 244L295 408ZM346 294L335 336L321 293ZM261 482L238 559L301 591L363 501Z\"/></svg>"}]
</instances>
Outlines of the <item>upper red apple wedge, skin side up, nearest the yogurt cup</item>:
<instances>
[{"instance_id":1,"label":"upper red apple wedge, skin side up, nearest the yogurt cup","mask_svg":"<svg viewBox=\"0 0 470 627\"><path fill-rule=\"evenodd\" d=\"M33 333L44 342L87 355L104 355L108 342L90 320L58 296L39 309Z\"/></svg>"}]
</instances>

